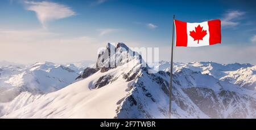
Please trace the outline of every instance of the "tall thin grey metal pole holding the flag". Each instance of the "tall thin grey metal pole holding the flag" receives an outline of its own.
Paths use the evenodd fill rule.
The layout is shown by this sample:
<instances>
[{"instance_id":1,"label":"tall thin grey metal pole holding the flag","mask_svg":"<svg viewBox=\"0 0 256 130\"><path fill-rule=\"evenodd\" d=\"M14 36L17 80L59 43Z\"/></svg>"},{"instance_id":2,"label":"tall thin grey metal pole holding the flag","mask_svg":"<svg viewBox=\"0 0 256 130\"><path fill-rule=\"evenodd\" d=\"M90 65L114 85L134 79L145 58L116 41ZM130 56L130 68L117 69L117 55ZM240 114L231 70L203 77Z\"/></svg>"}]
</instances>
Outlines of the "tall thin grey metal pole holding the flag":
<instances>
[{"instance_id":1,"label":"tall thin grey metal pole holding the flag","mask_svg":"<svg viewBox=\"0 0 256 130\"><path fill-rule=\"evenodd\" d=\"M175 20L175 15L174 15ZM172 68L173 68L173 59L174 59L174 20L172 21L172 54L171 54L171 72L170 72L170 88L169 88L169 119L171 119L171 110L172 110Z\"/></svg>"}]
</instances>

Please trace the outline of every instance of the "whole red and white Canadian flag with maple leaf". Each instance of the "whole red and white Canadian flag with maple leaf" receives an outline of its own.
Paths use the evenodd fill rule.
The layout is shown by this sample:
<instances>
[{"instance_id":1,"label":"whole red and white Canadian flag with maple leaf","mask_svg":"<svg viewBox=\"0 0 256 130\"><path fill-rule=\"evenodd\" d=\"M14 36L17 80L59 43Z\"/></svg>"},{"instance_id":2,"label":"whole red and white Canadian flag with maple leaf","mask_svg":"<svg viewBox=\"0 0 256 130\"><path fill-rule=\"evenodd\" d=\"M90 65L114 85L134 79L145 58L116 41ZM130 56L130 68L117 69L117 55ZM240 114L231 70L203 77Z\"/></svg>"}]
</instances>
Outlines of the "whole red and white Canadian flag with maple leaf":
<instances>
[{"instance_id":1,"label":"whole red and white Canadian flag with maple leaf","mask_svg":"<svg viewBox=\"0 0 256 130\"><path fill-rule=\"evenodd\" d=\"M221 21L210 20L203 23L187 23L174 20L176 46L208 46L221 43Z\"/></svg>"}]
</instances>

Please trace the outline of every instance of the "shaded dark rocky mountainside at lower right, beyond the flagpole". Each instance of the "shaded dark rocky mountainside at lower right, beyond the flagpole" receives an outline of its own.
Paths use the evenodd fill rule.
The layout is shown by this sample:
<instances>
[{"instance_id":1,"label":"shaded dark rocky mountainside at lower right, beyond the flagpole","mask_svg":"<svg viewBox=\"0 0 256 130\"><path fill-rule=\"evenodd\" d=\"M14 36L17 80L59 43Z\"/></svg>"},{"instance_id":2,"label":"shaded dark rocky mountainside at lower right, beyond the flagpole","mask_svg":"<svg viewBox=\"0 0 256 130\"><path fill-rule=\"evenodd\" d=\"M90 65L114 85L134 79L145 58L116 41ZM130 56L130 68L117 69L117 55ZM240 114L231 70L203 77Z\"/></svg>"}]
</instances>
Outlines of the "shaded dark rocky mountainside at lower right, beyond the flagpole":
<instances>
[{"instance_id":1,"label":"shaded dark rocky mountainside at lower right, beyond the flagpole","mask_svg":"<svg viewBox=\"0 0 256 130\"><path fill-rule=\"evenodd\" d=\"M249 111L255 111L256 108L254 98L239 95L236 92L221 90L214 93L211 89L195 87L183 90L193 103L210 118L246 118ZM248 103L250 106L246 106ZM232 112L225 117L226 110L232 110Z\"/></svg>"}]
</instances>

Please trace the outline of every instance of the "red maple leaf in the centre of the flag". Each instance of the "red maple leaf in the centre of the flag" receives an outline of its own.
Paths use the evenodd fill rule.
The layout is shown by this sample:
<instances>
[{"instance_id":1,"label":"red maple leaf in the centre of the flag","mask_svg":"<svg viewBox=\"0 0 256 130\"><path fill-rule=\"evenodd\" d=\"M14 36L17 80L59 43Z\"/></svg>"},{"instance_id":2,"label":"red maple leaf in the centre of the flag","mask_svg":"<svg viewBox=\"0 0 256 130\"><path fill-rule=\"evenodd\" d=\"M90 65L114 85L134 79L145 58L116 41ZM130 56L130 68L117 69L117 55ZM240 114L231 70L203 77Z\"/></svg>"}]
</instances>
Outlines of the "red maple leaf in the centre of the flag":
<instances>
[{"instance_id":1,"label":"red maple leaf in the centre of the flag","mask_svg":"<svg viewBox=\"0 0 256 130\"><path fill-rule=\"evenodd\" d=\"M203 27L201 27L200 25L198 25L197 27L195 27L195 31L189 31L190 32L190 36L194 38L194 41L197 40L197 44L199 44L199 40L203 40L204 36L207 34L207 31L203 30Z\"/></svg>"}]
</instances>

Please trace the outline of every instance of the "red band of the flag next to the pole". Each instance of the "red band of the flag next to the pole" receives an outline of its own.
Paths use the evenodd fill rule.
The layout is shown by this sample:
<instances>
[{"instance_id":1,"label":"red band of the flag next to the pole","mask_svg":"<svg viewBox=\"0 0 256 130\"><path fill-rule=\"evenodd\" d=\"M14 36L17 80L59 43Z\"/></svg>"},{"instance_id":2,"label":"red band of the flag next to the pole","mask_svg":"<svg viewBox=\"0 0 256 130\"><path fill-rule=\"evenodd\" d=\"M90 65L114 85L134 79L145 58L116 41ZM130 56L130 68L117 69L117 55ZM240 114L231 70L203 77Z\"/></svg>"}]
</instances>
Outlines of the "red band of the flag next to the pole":
<instances>
[{"instance_id":1,"label":"red band of the flag next to the pole","mask_svg":"<svg viewBox=\"0 0 256 130\"><path fill-rule=\"evenodd\" d=\"M175 21L176 31L176 46L187 46L188 35L187 35L187 23L184 21Z\"/></svg>"}]
</instances>

